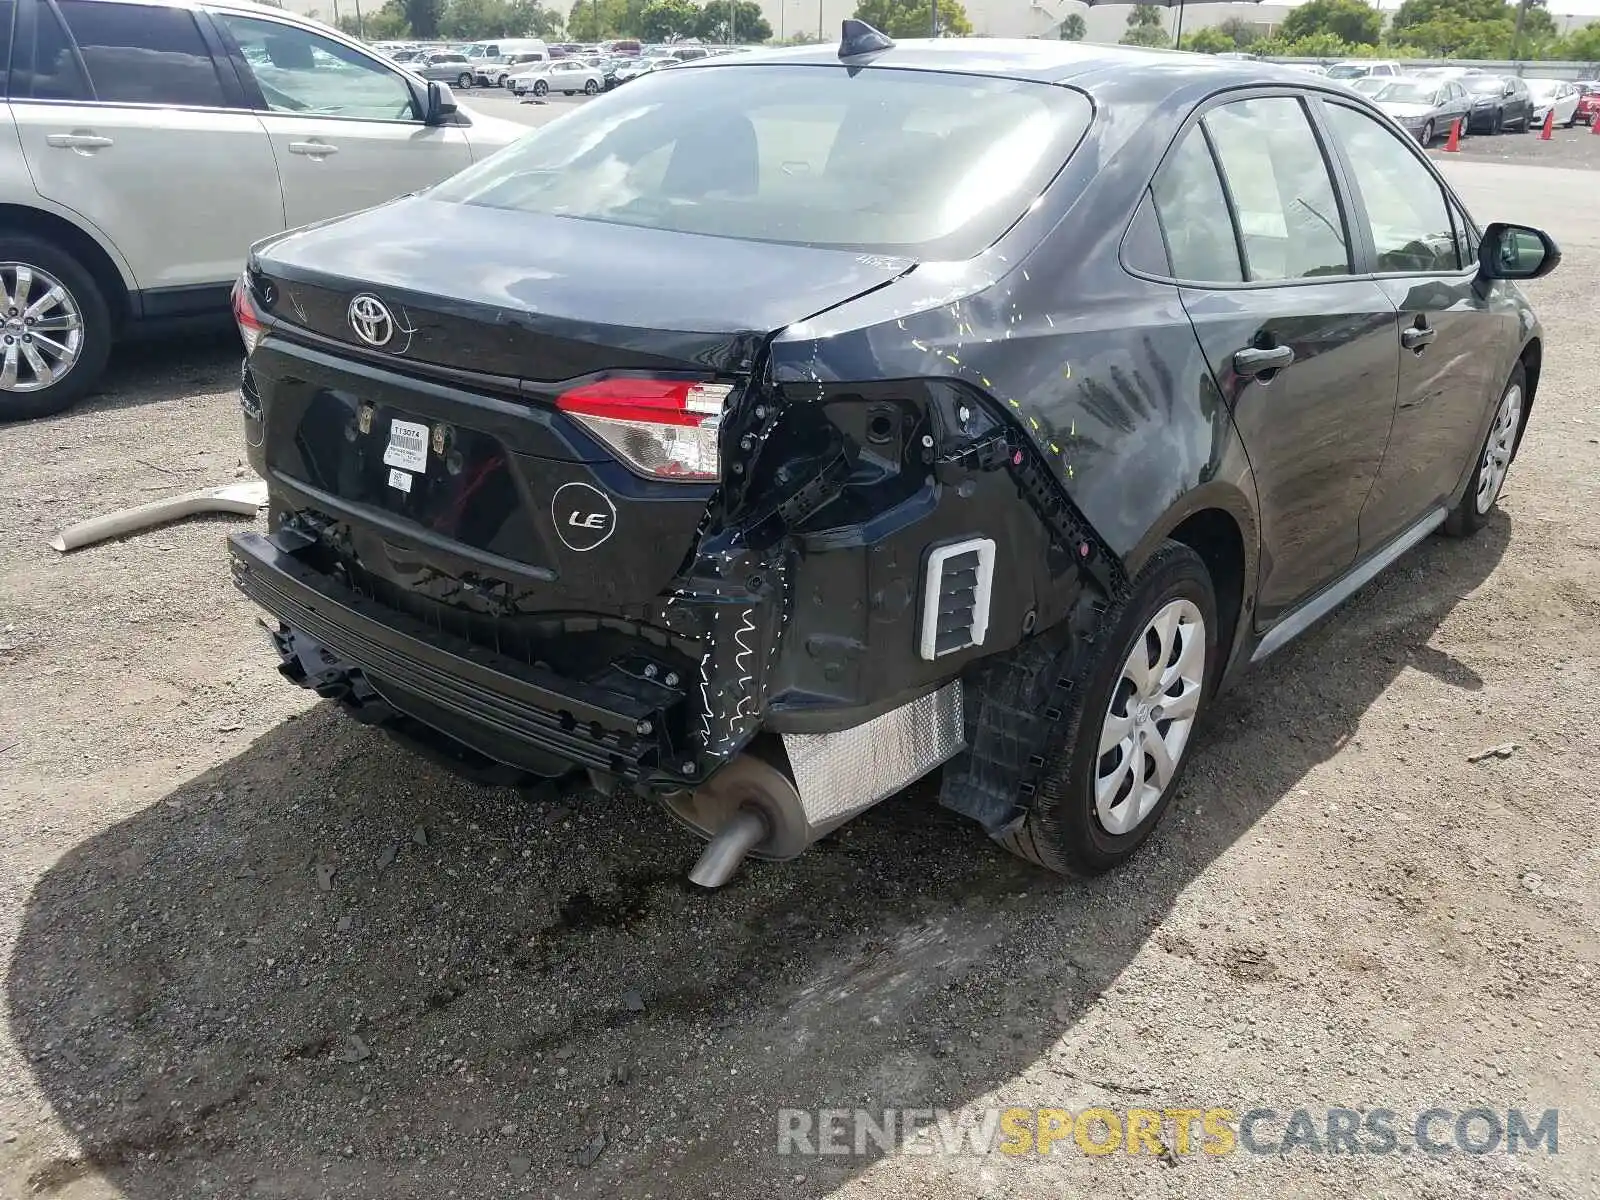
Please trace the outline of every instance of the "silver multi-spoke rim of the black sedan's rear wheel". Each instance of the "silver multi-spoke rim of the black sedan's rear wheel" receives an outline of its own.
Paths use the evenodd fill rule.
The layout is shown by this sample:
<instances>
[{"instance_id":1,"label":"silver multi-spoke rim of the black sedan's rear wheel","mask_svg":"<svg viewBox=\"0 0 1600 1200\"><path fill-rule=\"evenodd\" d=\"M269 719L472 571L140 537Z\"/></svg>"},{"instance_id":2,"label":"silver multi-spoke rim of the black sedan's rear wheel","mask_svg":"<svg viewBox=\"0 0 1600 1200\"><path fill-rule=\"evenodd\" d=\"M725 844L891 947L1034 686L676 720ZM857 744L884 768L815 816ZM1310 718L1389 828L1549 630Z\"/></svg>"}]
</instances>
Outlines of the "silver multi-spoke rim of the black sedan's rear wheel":
<instances>
[{"instance_id":1,"label":"silver multi-spoke rim of the black sedan's rear wheel","mask_svg":"<svg viewBox=\"0 0 1600 1200\"><path fill-rule=\"evenodd\" d=\"M1205 685L1205 618L1168 600L1133 643L1101 722L1094 814L1131 834L1160 803L1189 746Z\"/></svg>"}]
</instances>

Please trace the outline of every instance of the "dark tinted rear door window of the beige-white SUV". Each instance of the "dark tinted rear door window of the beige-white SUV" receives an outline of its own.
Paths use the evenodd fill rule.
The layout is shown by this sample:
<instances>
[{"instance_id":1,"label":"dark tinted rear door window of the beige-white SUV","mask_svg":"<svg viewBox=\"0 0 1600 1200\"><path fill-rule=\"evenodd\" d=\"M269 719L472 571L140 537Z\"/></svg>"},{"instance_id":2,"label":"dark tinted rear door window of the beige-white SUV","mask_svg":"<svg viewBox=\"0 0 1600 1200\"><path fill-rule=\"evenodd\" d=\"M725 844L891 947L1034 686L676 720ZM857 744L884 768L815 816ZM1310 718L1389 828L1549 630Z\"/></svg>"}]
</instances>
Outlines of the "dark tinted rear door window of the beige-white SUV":
<instances>
[{"instance_id":1,"label":"dark tinted rear door window of the beige-white SUV","mask_svg":"<svg viewBox=\"0 0 1600 1200\"><path fill-rule=\"evenodd\" d=\"M58 0L58 5L78 43L94 99L102 104L226 107L216 62L187 8L93 0Z\"/></svg>"}]
</instances>

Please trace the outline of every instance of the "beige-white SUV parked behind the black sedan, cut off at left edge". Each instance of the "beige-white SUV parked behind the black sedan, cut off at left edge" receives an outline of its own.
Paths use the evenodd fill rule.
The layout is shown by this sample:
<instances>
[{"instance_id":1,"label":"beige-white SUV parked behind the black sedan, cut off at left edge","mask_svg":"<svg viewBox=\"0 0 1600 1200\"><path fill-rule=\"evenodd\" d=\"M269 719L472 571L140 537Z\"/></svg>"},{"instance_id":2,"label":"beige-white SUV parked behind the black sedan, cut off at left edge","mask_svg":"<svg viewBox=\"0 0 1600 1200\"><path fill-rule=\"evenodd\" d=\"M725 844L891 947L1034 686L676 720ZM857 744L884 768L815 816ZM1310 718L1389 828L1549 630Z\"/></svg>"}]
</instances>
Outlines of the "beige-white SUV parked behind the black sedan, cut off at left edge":
<instances>
[{"instance_id":1,"label":"beige-white SUV parked behind the black sedan, cut off at left edge","mask_svg":"<svg viewBox=\"0 0 1600 1200\"><path fill-rule=\"evenodd\" d=\"M251 242L432 186L528 133L240 0L0 0L0 421L112 342L227 310Z\"/></svg>"}]
</instances>

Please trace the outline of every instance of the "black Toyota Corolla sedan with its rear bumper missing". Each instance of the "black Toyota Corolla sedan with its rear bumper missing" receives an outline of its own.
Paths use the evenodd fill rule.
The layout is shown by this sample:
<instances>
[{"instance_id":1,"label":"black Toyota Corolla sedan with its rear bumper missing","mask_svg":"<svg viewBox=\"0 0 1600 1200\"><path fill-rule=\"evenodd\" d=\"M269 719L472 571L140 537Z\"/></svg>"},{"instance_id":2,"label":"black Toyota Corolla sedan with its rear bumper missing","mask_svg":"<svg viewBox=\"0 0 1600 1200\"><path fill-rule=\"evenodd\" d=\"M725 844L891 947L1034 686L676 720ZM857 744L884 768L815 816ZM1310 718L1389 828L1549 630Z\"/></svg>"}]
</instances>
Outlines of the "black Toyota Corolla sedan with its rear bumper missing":
<instances>
[{"instance_id":1,"label":"black Toyota Corolla sedan with its rear bumper missing","mask_svg":"<svg viewBox=\"0 0 1600 1200\"><path fill-rule=\"evenodd\" d=\"M258 245L232 568L291 680L699 883L936 768L1104 870L1226 678L1490 518L1557 261L1336 83L846 22Z\"/></svg>"}]
</instances>

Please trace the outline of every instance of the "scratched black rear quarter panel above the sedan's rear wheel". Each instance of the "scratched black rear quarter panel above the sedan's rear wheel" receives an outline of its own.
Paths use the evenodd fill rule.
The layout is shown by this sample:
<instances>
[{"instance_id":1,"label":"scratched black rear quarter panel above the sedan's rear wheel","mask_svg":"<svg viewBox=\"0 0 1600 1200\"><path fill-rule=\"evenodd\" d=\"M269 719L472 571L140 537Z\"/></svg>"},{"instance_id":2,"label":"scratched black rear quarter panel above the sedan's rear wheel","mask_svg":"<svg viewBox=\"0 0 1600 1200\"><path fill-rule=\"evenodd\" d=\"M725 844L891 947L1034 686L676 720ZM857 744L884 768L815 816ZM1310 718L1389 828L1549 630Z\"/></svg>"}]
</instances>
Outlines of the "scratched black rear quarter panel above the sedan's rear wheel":
<instances>
[{"instance_id":1,"label":"scratched black rear quarter panel above the sedan's rear wheel","mask_svg":"<svg viewBox=\"0 0 1600 1200\"><path fill-rule=\"evenodd\" d=\"M770 378L790 398L866 379L974 389L1027 435L1130 574L1190 514L1227 512L1246 547L1248 597L1258 534L1243 446L1178 290L1120 264L1179 125L1170 110L1150 115L1136 96L1102 104L1069 166L994 248L922 264L790 326L770 346ZM987 512L971 520L974 533L997 536ZM1011 546L1008 562L1002 541L997 579L1027 574L1022 549ZM998 630L986 651L1018 632Z\"/></svg>"}]
</instances>

